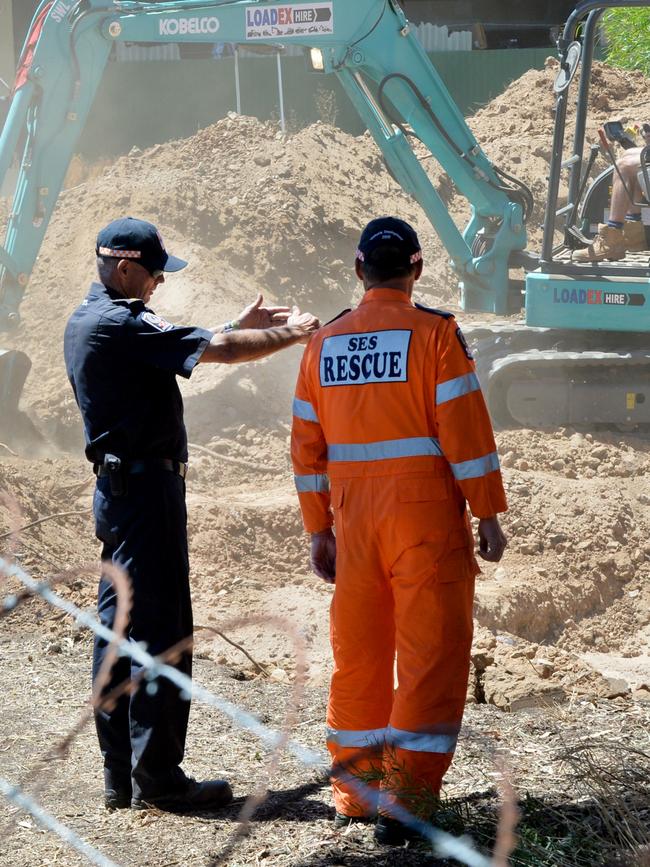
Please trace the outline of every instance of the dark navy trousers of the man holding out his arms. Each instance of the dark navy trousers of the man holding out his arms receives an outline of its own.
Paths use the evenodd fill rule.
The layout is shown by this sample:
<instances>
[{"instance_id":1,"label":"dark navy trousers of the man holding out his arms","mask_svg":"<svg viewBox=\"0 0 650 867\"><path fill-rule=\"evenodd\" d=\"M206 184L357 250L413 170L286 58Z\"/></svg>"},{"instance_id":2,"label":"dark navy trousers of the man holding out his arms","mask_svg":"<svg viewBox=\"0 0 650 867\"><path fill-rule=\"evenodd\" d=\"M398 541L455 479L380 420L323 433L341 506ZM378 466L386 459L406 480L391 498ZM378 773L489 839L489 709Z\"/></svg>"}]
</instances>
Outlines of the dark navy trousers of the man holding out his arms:
<instances>
[{"instance_id":1,"label":"dark navy trousers of the man holding out his arms","mask_svg":"<svg viewBox=\"0 0 650 867\"><path fill-rule=\"evenodd\" d=\"M143 642L156 656L192 634L185 482L165 470L131 475L127 495L113 497L108 478L101 478L93 505L102 560L121 566L131 579L129 641ZM112 583L101 578L99 619L109 628L116 605ZM102 639L95 640L93 680L107 646ZM175 665L191 675L191 652ZM104 694L140 671L130 658L118 658ZM95 714L106 788L132 787L135 797L167 794L184 781L179 765L190 703L163 678L155 681L154 694L150 692L143 684L114 708Z\"/></svg>"}]
</instances>

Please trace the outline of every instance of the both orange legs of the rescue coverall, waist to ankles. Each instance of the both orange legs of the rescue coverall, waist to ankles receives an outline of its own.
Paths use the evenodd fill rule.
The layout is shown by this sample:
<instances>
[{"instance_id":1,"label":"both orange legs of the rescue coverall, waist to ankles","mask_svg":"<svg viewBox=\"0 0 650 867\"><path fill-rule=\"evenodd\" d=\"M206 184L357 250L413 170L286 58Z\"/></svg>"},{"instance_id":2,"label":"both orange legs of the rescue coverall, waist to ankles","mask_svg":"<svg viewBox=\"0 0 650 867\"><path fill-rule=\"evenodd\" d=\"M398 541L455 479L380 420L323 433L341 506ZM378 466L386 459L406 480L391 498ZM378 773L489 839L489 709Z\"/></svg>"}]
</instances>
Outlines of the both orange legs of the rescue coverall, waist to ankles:
<instances>
[{"instance_id":1,"label":"both orange legs of the rescue coverall, waist to ankles","mask_svg":"<svg viewBox=\"0 0 650 867\"><path fill-rule=\"evenodd\" d=\"M431 808L460 728L476 571L471 537L440 479L418 474L415 481L414 493L408 476L346 479L336 497L342 505L335 509L335 669L328 710L335 732L328 746L334 802L347 815L367 812L354 774L382 777L387 804L397 795L416 811ZM393 697L395 647L399 686ZM383 727L395 742L385 747L378 772L377 750L354 745ZM337 767L350 768L353 779Z\"/></svg>"}]
</instances>

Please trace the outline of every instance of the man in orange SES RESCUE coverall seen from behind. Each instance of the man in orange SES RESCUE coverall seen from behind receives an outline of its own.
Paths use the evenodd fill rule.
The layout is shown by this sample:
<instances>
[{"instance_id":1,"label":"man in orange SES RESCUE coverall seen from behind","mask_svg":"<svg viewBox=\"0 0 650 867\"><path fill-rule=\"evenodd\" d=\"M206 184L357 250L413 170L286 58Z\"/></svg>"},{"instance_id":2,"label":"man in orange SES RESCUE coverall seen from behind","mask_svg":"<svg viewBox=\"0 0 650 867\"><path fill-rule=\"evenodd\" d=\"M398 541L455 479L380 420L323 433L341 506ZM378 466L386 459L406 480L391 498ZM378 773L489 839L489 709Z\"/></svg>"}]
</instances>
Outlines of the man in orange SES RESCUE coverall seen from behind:
<instances>
[{"instance_id":1,"label":"man in orange SES RESCUE coverall seen from behind","mask_svg":"<svg viewBox=\"0 0 650 867\"><path fill-rule=\"evenodd\" d=\"M361 304L305 350L292 457L312 568L336 583L335 825L379 810L377 840L401 844L409 832L391 806L430 811L461 726L479 572L467 507L480 555L498 561L496 515L507 506L465 339L450 313L411 299L422 274L415 231L371 222L356 273ZM355 784L368 772L382 778L372 803Z\"/></svg>"}]
</instances>

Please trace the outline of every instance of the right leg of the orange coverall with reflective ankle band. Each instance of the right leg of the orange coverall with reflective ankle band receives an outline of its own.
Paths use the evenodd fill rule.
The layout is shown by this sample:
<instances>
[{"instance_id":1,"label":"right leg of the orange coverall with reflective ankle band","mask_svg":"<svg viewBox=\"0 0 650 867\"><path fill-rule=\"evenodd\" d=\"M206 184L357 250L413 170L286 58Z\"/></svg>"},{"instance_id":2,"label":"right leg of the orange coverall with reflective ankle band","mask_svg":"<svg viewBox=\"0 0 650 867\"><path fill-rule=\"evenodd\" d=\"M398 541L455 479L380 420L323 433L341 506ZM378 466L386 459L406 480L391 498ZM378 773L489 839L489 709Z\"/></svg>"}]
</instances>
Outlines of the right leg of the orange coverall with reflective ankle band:
<instances>
[{"instance_id":1,"label":"right leg of the orange coverall with reflective ankle band","mask_svg":"<svg viewBox=\"0 0 650 867\"><path fill-rule=\"evenodd\" d=\"M467 694L475 567L462 532L393 565L398 688L386 733L380 808L423 818L451 764ZM458 545L458 547L453 547Z\"/></svg>"}]
</instances>

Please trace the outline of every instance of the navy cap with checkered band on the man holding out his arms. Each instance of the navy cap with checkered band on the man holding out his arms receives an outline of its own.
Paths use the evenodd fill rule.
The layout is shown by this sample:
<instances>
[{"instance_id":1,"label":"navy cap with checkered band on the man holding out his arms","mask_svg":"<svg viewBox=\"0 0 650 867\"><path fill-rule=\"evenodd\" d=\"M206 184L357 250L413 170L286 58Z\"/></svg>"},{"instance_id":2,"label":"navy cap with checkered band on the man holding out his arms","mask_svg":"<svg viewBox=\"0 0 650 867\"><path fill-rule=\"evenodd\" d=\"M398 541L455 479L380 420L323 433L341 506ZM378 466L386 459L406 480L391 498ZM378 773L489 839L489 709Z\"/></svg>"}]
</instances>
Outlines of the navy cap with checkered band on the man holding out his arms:
<instances>
[{"instance_id":1,"label":"navy cap with checkered band on the man holding out his arms","mask_svg":"<svg viewBox=\"0 0 650 867\"><path fill-rule=\"evenodd\" d=\"M113 259L133 259L147 271L180 271L187 265L169 255L153 223L135 217L122 217L105 226L97 235L95 252Z\"/></svg>"}]
</instances>

